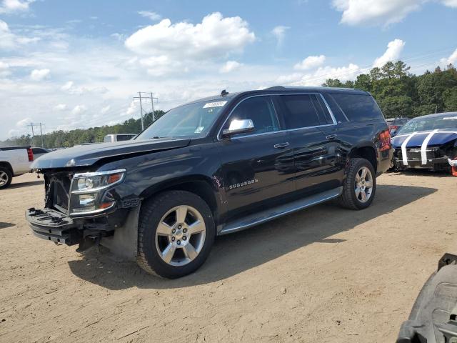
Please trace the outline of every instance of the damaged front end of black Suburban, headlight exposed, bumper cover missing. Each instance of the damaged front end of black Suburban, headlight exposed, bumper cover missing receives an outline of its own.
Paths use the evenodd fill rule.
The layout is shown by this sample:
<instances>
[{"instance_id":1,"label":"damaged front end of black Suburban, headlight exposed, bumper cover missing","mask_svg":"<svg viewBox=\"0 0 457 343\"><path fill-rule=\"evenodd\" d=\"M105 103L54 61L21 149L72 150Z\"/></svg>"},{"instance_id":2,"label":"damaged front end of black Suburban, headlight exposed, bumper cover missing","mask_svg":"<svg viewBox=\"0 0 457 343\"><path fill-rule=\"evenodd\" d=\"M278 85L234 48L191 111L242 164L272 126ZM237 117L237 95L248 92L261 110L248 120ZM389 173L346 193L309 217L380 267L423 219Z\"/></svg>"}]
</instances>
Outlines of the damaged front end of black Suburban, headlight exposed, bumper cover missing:
<instances>
[{"instance_id":1,"label":"damaged front end of black Suburban, headlight exposed, bumper cover missing","mask_svg":"<svg viewBox=\"0 0 457 343\"><path fill-rule=\"evenodd\" d=\"M27 209L27 222L36 237L56 244L79 244L79 252L103 240L112 241L116 229L121 229L129 217L131 207L139 205L138 198L122 199L116 192L126 177L125 169L39 172L45 180L45 208Z\"/></svg>"}]
</instances>

